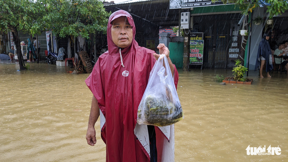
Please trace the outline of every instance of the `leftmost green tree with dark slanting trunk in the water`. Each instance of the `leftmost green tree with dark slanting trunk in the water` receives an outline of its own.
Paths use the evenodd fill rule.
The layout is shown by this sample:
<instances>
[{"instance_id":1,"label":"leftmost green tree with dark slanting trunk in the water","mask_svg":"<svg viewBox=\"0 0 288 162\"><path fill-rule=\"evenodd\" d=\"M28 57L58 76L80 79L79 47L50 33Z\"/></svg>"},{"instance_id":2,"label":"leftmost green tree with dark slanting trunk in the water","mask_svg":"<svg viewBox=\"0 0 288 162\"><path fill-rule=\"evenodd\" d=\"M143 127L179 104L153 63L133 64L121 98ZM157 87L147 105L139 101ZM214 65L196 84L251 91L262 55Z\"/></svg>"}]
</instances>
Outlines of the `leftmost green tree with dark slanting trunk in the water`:
<instances>
[{"instance_id":1,"label":"leftmost green tree with dark slanting trunk in the water","mask_svg":"<svg viewBox=\"0 0 288 162\"><path fill-rule=\"evenodd\" d=\"M17 49L20 70L25 63L21 53L19 32L30 32L32 25L44 14L44 6L33 0L0 0L0 30L8 33L10 30ZM37 25L35 25L37 26ZM38 29L39 31L40 29ZM35 30L36 32L36 30Z\"/></svg>"}]
</instances>

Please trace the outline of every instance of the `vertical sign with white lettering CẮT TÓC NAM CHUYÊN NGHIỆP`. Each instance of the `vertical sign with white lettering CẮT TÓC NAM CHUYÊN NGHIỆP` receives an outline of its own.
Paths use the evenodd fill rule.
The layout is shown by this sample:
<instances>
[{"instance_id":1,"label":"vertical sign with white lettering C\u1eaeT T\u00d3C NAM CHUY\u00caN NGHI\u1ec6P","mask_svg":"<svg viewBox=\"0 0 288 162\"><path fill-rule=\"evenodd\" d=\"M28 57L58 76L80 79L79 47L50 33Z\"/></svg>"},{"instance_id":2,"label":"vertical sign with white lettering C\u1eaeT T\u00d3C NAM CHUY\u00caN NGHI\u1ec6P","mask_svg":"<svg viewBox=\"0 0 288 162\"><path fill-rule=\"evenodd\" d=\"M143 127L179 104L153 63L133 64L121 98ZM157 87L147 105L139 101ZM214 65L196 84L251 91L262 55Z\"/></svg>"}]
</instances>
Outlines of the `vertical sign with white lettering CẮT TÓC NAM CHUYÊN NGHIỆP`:
<instances>
[{"instance_id":1,"label":"vertical sign with white lettering C\u1eaeT T\u00d3C NAM CHUY\u00caN NGHI\u1ec6P","mask_svg":"<svg viewBox=\"0 0 288 162\"><path fill-rule=\"evenodd\" d=\"M234 27L234 30L231 30L230 40L227 50L227 68L233 68L235 65L235 60L240 59L240 50L241 50L241 35L239 29Z\"/></svg>"}]
</instances>

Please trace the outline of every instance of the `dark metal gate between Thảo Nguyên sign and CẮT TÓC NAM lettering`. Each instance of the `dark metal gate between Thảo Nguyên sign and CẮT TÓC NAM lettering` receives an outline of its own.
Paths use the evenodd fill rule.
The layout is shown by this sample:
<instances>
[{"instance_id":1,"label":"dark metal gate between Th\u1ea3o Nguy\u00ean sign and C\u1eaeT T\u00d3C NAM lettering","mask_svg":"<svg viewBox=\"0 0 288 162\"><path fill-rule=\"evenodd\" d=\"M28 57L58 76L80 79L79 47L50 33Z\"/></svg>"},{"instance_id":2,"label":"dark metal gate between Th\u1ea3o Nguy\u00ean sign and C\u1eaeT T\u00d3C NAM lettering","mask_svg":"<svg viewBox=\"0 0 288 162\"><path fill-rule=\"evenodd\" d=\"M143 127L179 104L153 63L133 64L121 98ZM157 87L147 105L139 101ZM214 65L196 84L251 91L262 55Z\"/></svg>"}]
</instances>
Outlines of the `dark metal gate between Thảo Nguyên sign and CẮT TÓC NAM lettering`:
<instances>
[{"instance_id":1,"label":"dark metal gate between Th\u1ea3o Nguy\u00ean sign and C\u1eaeT T\u00d3C NAM lettering","mask_svg":"<svg viewBox=\"0 0 288 162\"><path fill-rule=\"evenodd\" d=\"M238 15L240 15L240 13L202 15L194 17L195 23L199 25L197 32L203 32L204 34L204 67L227 68L230 21L235 21L235 19L237 20L239 17Z\"/></svg>"}]
</instances>

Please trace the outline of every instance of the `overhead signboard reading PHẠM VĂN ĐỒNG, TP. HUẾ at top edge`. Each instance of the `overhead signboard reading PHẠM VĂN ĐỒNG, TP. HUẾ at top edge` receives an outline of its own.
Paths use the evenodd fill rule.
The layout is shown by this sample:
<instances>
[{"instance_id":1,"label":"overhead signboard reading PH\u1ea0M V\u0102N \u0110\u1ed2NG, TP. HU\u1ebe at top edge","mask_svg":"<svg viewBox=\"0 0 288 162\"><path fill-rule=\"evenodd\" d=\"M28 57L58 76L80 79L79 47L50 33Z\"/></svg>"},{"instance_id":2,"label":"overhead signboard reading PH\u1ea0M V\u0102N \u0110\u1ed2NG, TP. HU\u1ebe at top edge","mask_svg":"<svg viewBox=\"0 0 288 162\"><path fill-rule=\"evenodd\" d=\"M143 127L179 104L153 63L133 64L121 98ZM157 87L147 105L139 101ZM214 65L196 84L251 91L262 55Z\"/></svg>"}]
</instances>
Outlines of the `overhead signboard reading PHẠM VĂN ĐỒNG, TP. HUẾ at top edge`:
<instances>
[{"instance_id":1,"label":"overhead signboard reading PH\u1ea0M V\u0102N \u0110\u1ed2NG, TP. HU\u1ebe at top edge","mask_svg":"<svg viewBox=\"0 0 288 162\"><path fill-rule=\"evenodd\" d=\"M216 6L216 5L224 5L224 4L222 3L222 1L216 1L215 3L213 3L212 0L170 0L170 9Z\"/></svg>"}]
</instances>

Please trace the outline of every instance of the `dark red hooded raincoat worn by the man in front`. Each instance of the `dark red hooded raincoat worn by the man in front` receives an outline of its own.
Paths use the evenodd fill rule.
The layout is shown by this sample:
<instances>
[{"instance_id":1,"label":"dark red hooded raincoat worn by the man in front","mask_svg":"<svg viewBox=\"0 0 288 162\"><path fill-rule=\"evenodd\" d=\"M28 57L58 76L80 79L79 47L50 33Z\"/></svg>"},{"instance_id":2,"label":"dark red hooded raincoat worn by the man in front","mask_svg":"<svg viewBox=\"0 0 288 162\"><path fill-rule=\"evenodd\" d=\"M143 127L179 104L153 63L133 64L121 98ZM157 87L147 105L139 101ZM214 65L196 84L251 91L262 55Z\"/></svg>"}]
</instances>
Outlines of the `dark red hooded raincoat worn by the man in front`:
<instances>
[{"instance_id":1,"label":"dark red hooded raincoat worn by the man in front","mask_svg":"<svg viewBox=\"0 0 288 162\"><path fill-rule=\"evenodd\" d=\"M121 49L125 67L121 66L120 49L113 43L111 37L111 21L120 16L127 17L133 30L132 43ZM150 148L147 151L147 148L143 147L141 140L134 133L134 128L138 124L136 121L137 109L147 86L150 71L156 61L153 56L154 51L138 46L135 41L134 20L128 12L123 10L116 11L109 17L107 41L108 51L99 57L92 73L85 80L101 110L101 137L106 143L106 161L149 162ZM176 68L174 78L177 87L178 72ZM147 126L146 130L145 127L143 130L144 134L145 131L148 134ZM156 130L156 133L159 130ZM158 133L158 138L159 134L162 136L160 138L164 138L161 133ZM162 150L160 147L159 150ZM160 161L161 154L158 153Z\"/></svg>"}]
</instances>

